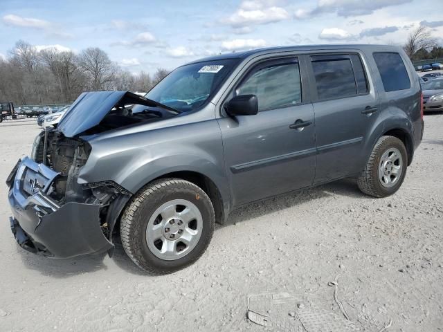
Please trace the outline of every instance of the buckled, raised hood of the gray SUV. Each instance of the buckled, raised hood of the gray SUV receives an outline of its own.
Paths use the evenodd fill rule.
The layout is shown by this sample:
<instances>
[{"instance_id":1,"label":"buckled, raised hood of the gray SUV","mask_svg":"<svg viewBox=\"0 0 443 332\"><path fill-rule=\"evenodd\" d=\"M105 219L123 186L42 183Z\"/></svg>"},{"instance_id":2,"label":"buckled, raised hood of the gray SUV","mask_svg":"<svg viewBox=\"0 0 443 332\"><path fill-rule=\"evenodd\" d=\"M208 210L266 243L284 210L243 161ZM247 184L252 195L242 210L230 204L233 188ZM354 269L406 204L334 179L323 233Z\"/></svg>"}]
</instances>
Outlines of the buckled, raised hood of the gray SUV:
<instances>
[{"instance_id":1,"label":"buckled, raised hood of the gray SUV","mask_svg":"<svg viewBox=\"0 0 443 332\"><path fill-rule=\"evenodd\" d=\"M84 92L66 111L57 125L57 130L66 137L78 136L97 126L114 107L121 104L142 104L147 107L161 107L179 113L171 107L129 91Z\"/></svg>"}]
</instances>

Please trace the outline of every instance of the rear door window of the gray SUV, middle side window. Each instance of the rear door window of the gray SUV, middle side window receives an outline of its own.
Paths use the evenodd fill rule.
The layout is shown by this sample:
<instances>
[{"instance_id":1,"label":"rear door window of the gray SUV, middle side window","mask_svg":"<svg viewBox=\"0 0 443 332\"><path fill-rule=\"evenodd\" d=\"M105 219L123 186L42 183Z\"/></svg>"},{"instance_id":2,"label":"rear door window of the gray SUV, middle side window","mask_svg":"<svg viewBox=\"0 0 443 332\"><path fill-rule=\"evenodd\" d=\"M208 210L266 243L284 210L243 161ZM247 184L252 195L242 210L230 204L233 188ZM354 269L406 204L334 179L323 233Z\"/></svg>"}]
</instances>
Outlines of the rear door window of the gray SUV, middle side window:
<instances>
[{"instance_id":1,"label":"rear door window of the gray SUV, middle side window","mask_svg":"<svg viewBox=\"0 0 443 332\"><path fill-rule=\"evenodd\" d=\"M359 55L312 55L311 64L320 100L368 92L368 81Z\"/></svg>"}]
</instances>

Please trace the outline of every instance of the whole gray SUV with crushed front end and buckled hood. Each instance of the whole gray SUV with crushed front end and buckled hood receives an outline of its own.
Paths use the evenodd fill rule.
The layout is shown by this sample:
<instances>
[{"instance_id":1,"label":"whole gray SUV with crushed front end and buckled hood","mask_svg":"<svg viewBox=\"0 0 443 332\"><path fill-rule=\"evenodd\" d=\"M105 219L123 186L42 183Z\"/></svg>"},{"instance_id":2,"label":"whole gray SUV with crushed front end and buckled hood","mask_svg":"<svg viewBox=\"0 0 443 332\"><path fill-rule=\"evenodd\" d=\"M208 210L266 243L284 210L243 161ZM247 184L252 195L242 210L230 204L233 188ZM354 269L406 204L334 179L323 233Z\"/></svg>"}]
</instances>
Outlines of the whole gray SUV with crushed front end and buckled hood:
<instances>
[{"instance_id":1,"label":"whole gray SUV with crushed front end and buckled hood","mask_svg":"<svg viewBox=\"0 0 443 332\"><path fill-rule=\"evenodd\" d=\"M8 177L12 232L48 257L109 252L144 270L206 250L233 208L354 177L395 193L423 135L422 91L394 46L297 46L181 66L145 97L82 93Z\"/></svg>"}]
</instances>

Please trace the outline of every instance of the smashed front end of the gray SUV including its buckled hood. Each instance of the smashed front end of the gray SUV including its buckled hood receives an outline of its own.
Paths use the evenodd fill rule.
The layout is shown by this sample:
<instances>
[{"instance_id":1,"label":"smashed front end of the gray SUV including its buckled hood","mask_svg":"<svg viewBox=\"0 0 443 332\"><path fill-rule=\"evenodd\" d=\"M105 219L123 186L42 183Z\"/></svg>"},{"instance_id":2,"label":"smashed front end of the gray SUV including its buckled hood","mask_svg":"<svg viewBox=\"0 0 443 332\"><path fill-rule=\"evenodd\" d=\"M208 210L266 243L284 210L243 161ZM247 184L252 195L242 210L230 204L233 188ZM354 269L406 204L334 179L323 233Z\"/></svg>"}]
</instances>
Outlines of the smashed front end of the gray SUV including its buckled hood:
<instances>
[{"instance_id":1,"label":"smashed front end of the gray SUV including its buckled hood","mask_svg":"<svg viewBox=\"0 0 443 332\"><path fill-rule=\"evenodd\" d=\"M180 113L127 91L82 93L57 129L37 136L31 157L19 160L6 181L11 228L20 246L64 258L111 254L112 230L131 193L102 178L79 183L92 150L86 137Z\"/></svg>"}]
</instances>

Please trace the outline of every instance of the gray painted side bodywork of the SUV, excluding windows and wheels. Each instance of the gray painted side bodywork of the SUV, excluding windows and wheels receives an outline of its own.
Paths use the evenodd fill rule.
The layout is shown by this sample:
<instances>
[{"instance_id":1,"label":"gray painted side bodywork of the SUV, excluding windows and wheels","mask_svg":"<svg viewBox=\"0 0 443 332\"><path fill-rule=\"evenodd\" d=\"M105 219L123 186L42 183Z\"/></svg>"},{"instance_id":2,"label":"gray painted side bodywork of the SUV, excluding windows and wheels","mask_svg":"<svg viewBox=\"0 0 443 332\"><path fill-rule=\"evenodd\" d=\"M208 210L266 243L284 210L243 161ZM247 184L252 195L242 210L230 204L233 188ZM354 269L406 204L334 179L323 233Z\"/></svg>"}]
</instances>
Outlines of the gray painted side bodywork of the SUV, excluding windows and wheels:
<instances>
[{"instance_id":1,"label":"gray painted side bodywork of the SUV, excluding windows and wheels","mask_svg":"<svg viewBox=\"0 0 443 332\"><path fill-rule=\"evenodd\" d=\"M408 68L410 89L384 92L374 51L400 53ZM317 101L306 89L312 83L307 55L340 52L361 55L370 91L352 98ZM257 62L283 56L300 59L305 103L256 116L227 116L223 104L242 75ZM79 182L112 180L134 193L170 172L198 172L217 185L228 212L236 205L358 174L377 139L390 129L407 133L413 147L421 139L418 78L397 47L300 46L210 59L226 57L242 61L197 113L84 137L92 153ZM377 112L361 113L366 107L377 108ZM298 119L312 124L303 131L289 129Z\"/></svg>"}]
</instances>

